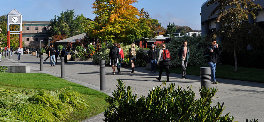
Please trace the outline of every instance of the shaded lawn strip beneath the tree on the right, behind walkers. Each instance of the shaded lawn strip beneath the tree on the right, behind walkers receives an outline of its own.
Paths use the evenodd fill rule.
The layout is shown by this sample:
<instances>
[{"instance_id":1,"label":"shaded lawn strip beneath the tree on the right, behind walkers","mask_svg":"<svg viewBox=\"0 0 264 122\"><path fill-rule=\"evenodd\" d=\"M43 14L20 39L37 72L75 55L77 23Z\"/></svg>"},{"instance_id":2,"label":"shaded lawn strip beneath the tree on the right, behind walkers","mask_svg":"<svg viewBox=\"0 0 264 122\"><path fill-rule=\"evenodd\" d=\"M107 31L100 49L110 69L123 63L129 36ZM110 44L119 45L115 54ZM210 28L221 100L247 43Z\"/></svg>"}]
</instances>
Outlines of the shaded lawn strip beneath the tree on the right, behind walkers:
<instances>
[{"instance_id":1,"label":"shaded lawn strip beneath the tree on the right, behind walkers","mask_svg":"<svg viewBox=\"0 0 264 122\"><path fill-rule=\"evenodd\" d=\"M186 74L190 75L200 75L200 67L209 67L205 66L187 66ZM172 67L169 69L170 73L181 74L182 67ZM157 71L159 71L157 69ZM163 71L165 72L165 70ZM234 79L250 82L260 82L264 83L264 70L263 69L254 69L246 67L238 67L238 71L234 72L234 67L230 65L216 65L216 78L224 79Z\"/></svg>"}]
</instances>

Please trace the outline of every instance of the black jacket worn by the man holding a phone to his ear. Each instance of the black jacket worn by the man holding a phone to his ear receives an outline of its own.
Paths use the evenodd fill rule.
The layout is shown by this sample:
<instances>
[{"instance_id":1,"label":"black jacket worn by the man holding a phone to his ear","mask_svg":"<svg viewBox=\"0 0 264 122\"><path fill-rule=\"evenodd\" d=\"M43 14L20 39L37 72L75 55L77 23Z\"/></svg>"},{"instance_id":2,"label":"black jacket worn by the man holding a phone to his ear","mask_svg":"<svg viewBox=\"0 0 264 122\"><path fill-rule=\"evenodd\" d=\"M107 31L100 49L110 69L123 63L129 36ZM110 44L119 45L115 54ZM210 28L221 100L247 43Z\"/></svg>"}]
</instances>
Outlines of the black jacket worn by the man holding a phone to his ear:
<instances>
[{"instance_id":1,"label":"black jacket worn by the man holding a phone to his ear","mask_svg":"<svg viewBox=\"0 0 264 122\"><path fill-rule=\"evenodd\" d=\"M211 49L214 51L211 52ZM213 45L208 45L204 50L204 55L209 55L207 62L213 62L215 64L217 63L217 55L220 55L220 50L219 48L214 48Z\"/></svg>"}]
</instances>

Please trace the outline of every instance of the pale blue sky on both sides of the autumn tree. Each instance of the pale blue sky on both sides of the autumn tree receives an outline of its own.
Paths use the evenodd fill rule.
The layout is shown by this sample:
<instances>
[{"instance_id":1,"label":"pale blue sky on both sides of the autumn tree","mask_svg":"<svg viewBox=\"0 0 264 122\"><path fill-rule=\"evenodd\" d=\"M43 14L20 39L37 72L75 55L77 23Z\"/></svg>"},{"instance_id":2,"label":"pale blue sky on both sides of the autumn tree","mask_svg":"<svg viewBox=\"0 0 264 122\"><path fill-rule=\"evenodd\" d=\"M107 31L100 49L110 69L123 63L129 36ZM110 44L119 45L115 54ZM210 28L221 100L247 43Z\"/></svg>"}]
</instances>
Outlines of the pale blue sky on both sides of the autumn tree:
<instances>
[{"instance_id":1,"label":"pale blue sky on both sides of the autumn tree","mask_svg":"<svg viewBox=\"0 0 264 122\"><path fill-rule=\"evenodd\" d=\"M164 28L170 22L201 30L199 14L205 1L207 0L138 0L138 3L132 5L138 10L143 7ZM83 14L94 19L92 2L93 0L1 0L0 16L16 9L25 21L50 21L62 11L74 9L75 15Z\"/></svg>"}]
</instances>

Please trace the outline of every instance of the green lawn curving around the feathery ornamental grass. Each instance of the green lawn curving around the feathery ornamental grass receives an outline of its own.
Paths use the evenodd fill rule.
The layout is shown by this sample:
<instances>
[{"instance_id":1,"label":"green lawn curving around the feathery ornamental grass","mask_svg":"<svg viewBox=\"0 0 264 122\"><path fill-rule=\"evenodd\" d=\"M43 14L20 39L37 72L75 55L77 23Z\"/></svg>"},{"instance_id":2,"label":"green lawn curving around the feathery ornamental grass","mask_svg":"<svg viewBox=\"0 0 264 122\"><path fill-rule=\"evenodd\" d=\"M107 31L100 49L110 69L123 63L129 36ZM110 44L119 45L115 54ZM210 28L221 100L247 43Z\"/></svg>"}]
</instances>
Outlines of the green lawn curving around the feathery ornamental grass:
<instances>
[{"instance_id":1,"label":"green lawn curving around the feathery ornamental grass","mask_svg":"<svg viewBox=\"0 0 264 122\"><path fill-rule=\"evenodd\" d=\"M71 90L84 94L84 98L89 101L89 109L70 113L72 118L70 118L70 120L66 120L66 122L82 121L86 118L104 112L104 109L107 107L107 103L104 100L108 97L107 94L49 74L0 73L0 77L0 88L53 90L56 88L72 87Z\"/></svg>"}]
</instances>

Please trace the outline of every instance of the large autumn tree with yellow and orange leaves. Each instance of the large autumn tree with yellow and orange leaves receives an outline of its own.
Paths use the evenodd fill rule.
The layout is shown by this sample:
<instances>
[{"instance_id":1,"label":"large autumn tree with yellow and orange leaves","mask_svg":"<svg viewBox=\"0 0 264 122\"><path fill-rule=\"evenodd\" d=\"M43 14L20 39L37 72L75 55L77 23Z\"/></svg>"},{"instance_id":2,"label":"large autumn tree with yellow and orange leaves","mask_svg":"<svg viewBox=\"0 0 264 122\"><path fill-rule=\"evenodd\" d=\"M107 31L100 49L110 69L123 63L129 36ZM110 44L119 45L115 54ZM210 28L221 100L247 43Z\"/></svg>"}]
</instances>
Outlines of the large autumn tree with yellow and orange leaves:
<instances>
[{"instance_id":1,"label":"large autumn tree with yellow and orange leaves","mask_svg":"<svg viewBox=\"0 0 264 122\"><path fill-rule=\"evenodd\" d=\"M143 38L147 31L153 31L140 20L138 9L132 6L135 2L138 1L95 0L92 4L96 17L87 27L89 38L130 44Z\"/></svg>"}]
</instances>

